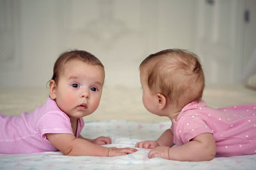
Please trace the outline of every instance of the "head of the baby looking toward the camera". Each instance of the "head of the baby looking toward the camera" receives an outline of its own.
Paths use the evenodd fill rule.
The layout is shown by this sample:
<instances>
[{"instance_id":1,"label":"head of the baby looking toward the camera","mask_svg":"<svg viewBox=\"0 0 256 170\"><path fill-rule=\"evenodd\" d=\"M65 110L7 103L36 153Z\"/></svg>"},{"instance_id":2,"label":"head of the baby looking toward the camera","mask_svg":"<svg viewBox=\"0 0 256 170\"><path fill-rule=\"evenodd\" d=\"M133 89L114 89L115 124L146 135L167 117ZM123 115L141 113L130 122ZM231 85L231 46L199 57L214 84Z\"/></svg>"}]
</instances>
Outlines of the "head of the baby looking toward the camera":
<instances>
[{"instance_id":1,"label":"head of the baby looking toward the camera","mask_svg":"<svg viewBox=\"0 0 256 170\"><path fill-rule=\"evenodd\" d=\"M99 106L104 78L104 66L91 53L61 53L49 81L49 95L70 120L84 117Z\"/></svg>"}]
</instances>

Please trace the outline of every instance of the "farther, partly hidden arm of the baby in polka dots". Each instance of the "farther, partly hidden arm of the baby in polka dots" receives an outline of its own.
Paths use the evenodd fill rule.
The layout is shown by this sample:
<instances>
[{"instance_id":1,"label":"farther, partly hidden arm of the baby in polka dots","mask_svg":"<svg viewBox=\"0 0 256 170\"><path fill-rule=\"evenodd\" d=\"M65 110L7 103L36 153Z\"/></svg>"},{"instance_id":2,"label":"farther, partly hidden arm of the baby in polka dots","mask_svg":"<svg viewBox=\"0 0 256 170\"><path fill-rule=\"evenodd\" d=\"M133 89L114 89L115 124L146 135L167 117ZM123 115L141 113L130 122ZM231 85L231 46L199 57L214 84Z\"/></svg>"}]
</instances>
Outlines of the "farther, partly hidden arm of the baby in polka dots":
<instances>
[{"instance_id":1,"label":"farther, partly hidden arm of the baby in polka dots","mask_svg":"<svg viewBox=\"0 0 256 170\"><path fill-rule=\"evenodd\" d=\"M136 143L137 148L146 148L146 149L153 149L157 146L173 146L173 134L170 129L161 134L161 136L156 141L141 141Z\"/></svg>"}]
</instances>

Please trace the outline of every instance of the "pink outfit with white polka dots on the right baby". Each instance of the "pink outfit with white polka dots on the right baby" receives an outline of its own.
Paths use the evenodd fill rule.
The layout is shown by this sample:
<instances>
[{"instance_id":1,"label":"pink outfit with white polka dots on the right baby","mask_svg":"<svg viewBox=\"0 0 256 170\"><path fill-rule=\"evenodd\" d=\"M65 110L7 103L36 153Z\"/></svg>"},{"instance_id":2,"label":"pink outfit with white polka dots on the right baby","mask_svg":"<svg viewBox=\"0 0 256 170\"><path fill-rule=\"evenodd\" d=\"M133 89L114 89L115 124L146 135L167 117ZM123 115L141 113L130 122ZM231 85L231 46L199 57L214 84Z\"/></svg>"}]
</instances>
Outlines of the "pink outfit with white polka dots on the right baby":
<instances>
[{"instance_id":1,"label":"pink outfit with white polka dots on the right baby","mask_svg":"<svg viewBox=\"0 0 256 170\"><path fill-rule=\"evenodd\" d=\"M187 104L172 123L173 141L178 146L211 133L216 157L256 154L256 103L215 110L201 99Z\"/></svg>"}]
</instances>

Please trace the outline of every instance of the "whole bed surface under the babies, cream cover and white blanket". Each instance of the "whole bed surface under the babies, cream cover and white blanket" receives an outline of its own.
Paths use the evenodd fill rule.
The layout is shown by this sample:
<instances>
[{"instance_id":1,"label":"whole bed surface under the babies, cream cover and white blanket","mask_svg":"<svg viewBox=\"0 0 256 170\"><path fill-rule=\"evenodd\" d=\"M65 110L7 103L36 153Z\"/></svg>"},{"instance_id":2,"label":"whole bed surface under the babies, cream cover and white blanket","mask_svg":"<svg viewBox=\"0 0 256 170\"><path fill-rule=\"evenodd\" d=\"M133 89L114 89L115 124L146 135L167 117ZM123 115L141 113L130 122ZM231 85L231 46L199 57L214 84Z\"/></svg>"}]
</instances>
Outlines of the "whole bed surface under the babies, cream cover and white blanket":
<instances>
[{"instance_id":1,"label":"whole bed surface under the babies, cream cover and white blanket","mask_svg":"<svg viewBox=\"0 0 256 170\"><path fill-rule=\"evenodd\" d=\"M44 104L47 88L0 88L0 112L20 115ZM244 85L205 87L203 99L212 108L255 103L256 90ZM170 128L168 118L148 113L141 102L139 87L104 87L100 106L85 117L82 135L86 138L109 136L111 145L134 147L145 139L154 140ZM179 162L148 159L147 149L120 157L70 157L60 152L6 155L0 154L0 169L255 169L256 155L214 158L206 162Z\"/></svg>"}]
</instances>

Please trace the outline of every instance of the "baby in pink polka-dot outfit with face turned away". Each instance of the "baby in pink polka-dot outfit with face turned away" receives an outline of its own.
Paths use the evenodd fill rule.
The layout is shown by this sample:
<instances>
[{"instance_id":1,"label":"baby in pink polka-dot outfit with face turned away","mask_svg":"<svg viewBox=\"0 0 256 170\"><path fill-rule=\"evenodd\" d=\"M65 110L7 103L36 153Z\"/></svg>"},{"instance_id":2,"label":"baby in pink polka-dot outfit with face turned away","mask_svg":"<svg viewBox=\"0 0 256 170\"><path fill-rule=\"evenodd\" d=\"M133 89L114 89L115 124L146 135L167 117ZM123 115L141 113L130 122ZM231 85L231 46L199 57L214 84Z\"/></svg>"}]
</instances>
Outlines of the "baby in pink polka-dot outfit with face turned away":
<instances>
[{"instance_id":1,"label":"baby in pink polka-dot outfit with face turned away","mask_svg":"<svg viewBox=\"0 0 256 170\"><path fill-rule=\"evenodd\" d=\"M136 143L152 149L149 158L204 161L256 153L256 103L207 107L201 99L204 72L195 53L170 49L149 55L140 64L140 81L145 108L172 120L156 141Z\"/></svg>"}]
</instances>

